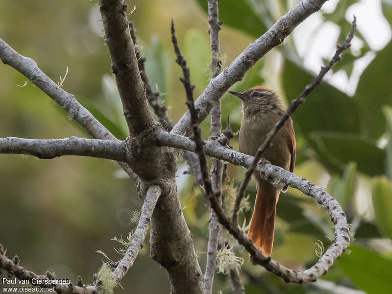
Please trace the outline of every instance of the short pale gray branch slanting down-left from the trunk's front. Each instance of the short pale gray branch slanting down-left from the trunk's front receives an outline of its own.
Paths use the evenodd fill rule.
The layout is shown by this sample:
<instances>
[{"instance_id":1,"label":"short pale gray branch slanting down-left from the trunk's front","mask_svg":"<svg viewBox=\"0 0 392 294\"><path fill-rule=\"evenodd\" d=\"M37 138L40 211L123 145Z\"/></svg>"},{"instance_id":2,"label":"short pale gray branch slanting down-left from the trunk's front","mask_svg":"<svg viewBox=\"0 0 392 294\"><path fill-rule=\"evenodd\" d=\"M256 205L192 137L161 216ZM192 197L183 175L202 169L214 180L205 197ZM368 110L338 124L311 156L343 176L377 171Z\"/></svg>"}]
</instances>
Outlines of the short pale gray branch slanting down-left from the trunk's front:
<instances>
[{"instance_id":1,"label":"short pale gray branch slanting down-left from the trunk's front","mask_svg":"<svg viewBox=\"0 0 392 294\"><path fill-rule=\"evenodd\" d=\"M144 199L140 220L136 227L135 233L132 235L131 245L125 252L122 260L119 261L116 269L113 270L113 277L121 280L126 272L133 266L140 249L143 248L144 240L147 236L147 230L150 226L152 212L154 211L156 202L162 191L159 186L151 185L148 188L146 198Z\"/></svg>"}]
</instances>

